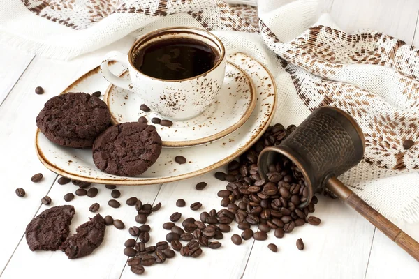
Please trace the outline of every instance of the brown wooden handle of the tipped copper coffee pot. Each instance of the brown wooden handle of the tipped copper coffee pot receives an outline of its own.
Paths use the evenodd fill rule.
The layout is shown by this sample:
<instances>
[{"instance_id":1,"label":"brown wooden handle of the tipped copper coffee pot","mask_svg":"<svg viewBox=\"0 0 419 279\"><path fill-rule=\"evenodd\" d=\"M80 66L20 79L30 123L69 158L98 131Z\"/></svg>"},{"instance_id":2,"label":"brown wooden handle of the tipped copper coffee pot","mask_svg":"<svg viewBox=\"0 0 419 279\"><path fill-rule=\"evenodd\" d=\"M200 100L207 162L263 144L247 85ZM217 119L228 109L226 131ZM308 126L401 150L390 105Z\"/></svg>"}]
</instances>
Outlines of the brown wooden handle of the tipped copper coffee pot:
<instances>
[{"instance_id":1,"label":"brown wooden handle of the tipped copper coffee pot","mask_svg":"<svg viewBox=\"0 0 419 279\"><path fill-rule=\"evenodd\" d=\"M336 177L332 177L326 183L326 187L331 190L339 198L343 199L346 204L358 211L369 223L376 226L389 239L397 243L403 250L409 253L414 259L419 262L419 243L412 239L409 234L406 234L390 220L382 216L378 211L364 202L358 195L352 192L351 189L341 183Z\"/></svg>"}]
</instances>

